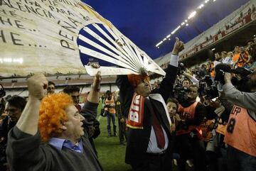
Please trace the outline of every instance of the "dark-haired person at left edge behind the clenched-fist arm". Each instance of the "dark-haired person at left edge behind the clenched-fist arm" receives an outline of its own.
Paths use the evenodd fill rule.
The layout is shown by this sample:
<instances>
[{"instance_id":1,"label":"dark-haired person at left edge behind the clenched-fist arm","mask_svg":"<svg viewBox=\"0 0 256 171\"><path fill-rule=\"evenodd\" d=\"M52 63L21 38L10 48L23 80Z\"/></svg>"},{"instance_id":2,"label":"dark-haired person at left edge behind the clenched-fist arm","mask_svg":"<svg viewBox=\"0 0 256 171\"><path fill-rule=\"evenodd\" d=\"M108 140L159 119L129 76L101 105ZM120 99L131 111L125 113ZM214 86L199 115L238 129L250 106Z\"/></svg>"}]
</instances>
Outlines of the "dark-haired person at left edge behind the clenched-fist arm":
<instances>
[{"instance_id":1,"label":"dark-haired person at left edge behind the clenched-fist arm","mask_svg":"<svg viewBox=\"0 0 256 171\"><path fill-rule=\"evenodd\" d=\"M16 125L25 106L26 100L21 96L11 96L7 99L5 108L7 116L0 125L0 170L7 170L6 145L8 133Z\"/></svg>"}]
</instances>

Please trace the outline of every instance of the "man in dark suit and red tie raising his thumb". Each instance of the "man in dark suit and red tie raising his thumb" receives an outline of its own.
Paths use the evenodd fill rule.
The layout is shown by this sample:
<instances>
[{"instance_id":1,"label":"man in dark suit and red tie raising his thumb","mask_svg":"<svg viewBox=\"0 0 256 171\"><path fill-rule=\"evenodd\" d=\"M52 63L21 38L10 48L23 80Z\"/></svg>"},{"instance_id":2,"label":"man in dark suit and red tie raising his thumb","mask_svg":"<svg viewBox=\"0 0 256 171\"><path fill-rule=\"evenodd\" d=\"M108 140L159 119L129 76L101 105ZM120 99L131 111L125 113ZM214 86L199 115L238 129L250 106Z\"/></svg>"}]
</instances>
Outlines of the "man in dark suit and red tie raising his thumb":
<instances>
[{"instance_id":1,"label":"man in dark suit and red tie raising his thumb","mask_svg":"<svg viewBox=\"0 0 256 171\"><path fill-rule=\"evenodd\" d=\"M158 89L151 90L149 77L117 77L121 104L127 115L127 148L125 162L134 171L171 170L171 119L166 108L178 70L178 53L183 43L176 38L166 77Z\"/></svg>"}]
</instances>

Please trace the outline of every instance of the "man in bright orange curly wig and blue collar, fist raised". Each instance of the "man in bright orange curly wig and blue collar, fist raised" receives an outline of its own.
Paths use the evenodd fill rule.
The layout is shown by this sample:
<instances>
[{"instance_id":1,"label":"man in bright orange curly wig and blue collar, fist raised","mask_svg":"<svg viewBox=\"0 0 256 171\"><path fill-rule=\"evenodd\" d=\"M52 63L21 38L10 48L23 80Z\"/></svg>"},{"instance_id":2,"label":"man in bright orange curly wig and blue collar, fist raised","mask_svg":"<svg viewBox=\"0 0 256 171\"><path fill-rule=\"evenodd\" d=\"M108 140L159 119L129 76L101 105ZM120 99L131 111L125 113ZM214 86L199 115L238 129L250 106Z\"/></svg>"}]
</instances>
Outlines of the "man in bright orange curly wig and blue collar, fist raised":
<instances>
[{"instance_id":1,"label":"man in bright orange curly wig and blue collar, fist raised","mask_svg":"<svg viewBox=\"0 0 256 171\"><path fill-rule=\"evenodd\" d=\"M85 118L68 94L44 97L47 84L44 75L28 79L28 103L9 133L7 158L11 170L101 171L85 126L82 127ZM99 87L100 72L82 108L92 116L97 115Z\"/></svg>"}]
</instances>

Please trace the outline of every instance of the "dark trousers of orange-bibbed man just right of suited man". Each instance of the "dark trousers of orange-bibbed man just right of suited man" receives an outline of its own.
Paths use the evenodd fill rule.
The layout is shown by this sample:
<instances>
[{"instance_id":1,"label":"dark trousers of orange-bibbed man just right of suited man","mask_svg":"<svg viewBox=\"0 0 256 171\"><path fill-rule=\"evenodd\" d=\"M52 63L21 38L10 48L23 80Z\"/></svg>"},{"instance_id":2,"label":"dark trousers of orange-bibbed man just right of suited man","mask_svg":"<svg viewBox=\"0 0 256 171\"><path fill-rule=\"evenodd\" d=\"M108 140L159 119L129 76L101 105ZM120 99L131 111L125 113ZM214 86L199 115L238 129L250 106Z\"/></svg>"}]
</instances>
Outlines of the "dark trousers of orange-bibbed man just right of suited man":
<instances>
[{"instance_id":1,"label":"dark trousers of orange-bibbed man just right of suited man","mask_svg":"<svg viewBox=\"0 0 256 171\"><path fill-rule=\"evenodd\" d=\"M206 152L197 137L183 134L176 136L176 146L181 158L178 160L180 171L186 171L186 160L193 159L194 170L206 171Z\"/></svg>"}]
</instances>

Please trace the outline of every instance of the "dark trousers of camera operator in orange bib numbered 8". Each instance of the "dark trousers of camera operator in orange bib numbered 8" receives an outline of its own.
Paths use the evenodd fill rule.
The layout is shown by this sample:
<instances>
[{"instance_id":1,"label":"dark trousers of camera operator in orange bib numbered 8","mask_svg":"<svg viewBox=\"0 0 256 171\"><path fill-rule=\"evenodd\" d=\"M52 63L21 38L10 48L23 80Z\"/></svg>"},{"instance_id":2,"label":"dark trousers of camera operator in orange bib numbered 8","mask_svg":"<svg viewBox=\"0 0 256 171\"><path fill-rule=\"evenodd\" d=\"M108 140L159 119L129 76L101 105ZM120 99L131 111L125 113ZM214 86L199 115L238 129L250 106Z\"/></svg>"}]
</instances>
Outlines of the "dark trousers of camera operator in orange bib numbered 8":
<instances>
[{"instance_id":1,"label":"dark trousers of camera operator in orange bib numbered 8","mask_svg":"<svg viewBox=\"0 0 256 171\"><path fill-rule=\"evenodd\" d=\"M250 147L252 148L252 147ZM256 157L228 145L228 171L255 171Z\"/></svg>"}]
</instances>

